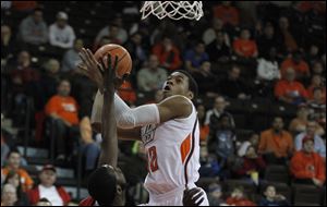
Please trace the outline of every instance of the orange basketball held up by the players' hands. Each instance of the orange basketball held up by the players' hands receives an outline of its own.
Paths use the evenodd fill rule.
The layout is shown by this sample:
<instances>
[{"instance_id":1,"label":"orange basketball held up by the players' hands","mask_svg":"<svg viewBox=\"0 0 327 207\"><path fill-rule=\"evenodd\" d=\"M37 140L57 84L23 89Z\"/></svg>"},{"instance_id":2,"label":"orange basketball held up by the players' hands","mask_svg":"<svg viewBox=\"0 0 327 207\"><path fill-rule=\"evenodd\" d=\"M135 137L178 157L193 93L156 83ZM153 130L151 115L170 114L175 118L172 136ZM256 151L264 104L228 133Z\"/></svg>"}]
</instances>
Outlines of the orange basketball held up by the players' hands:
<instances>
[{"instance_id":1,"label":"orange basketball held up by the players' hands","mask_svg":"<svg viewBox=\"0 0 327 207\"><path fill-rule=\"evenodd\" d=\"M117 76L122 78L124 75L129 75L132 71L132 58L129 53L129 51L123 48L120 45L116 44L108 44L102 47L100 47L96 52L95 52L95 58L97 61L101 62L101 59L105 62L105 65L107 65L108 61L108 53L111 54L111 63L113 65L114 63L114 58L118 56L118 66L117 66Z\"/></svg>"}]
</instances>

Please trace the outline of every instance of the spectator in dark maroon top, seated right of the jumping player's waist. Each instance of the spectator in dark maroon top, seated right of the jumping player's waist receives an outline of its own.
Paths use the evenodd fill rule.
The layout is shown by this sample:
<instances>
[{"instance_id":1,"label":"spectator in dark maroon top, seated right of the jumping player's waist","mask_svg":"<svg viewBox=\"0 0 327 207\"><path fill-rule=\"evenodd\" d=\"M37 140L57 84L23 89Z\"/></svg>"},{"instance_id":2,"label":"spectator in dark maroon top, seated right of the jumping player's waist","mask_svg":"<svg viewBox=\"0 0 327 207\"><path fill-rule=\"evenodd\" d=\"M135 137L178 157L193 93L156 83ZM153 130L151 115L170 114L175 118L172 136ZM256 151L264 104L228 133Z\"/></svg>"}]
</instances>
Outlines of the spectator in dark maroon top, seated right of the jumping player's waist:
<instances>
[{"instance_id":1,"label":"spectator in dark maroon top, seated right of the jumping player's waist","mask_svg":"<svg viewBox=\"0 0 327 207\"><path fill-rule=\"evenodd\" d=\"M258 178L262 178L266 168L263 157L257 155L257 150L250 143L243 144L238 155L242 158L243 165L240 169L235 170L235 174L239 178L252 179L252 181L258 185Z\"/></svg>"}]
</instances>

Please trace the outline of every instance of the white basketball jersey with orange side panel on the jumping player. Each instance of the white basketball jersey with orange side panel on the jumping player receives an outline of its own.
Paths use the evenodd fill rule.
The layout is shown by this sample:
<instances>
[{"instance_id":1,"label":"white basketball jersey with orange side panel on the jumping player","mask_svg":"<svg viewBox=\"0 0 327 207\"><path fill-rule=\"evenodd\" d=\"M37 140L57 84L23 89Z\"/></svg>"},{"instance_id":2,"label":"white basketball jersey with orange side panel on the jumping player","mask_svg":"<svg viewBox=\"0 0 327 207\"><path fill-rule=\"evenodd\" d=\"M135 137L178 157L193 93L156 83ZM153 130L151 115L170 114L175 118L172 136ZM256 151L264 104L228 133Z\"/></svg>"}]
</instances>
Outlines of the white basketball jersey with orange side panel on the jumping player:
<instances>
[{"instance_id":1,"label":"white basketball jersey with orange side panel on the jumping player","mask_svg":"<svg viewBox=\"0 0 327 207\"><path fill-rule=\"evenodd\" d=\"M150 194L164 194L198 180L199 129L193 104L187 118L146 125L141 135L148 159L145 187Z\"/></svg>"}]
</instances>

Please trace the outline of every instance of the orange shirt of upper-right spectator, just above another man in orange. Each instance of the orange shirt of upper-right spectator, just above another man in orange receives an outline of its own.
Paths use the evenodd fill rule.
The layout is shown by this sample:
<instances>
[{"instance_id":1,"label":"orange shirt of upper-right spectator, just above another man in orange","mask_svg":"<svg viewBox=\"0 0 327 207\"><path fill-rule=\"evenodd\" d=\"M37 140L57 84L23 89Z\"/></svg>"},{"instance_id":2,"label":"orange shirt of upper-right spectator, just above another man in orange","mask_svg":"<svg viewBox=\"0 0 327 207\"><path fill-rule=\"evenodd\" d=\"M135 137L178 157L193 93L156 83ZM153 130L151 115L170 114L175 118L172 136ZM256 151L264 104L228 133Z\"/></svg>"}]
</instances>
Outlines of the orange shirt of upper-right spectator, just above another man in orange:
<instances>
[{"instance_id":1,"label":"orange shirt of upper-right spectator, just above another man in orange","mask_svg":"<svg viewBox=\"0 0 327 207\"><path fill-rule=\"evenodd\" d=\"M296 74L300 76L308 76L310 75L310 70L308 70L308 65L305 61L300 60L298 63L296 61L294 61L291 58L286 59L282 63L281 63L281 76L284 75L286 70L288 68L292 68L295 70Z\"/></svg>"}]
</instances>

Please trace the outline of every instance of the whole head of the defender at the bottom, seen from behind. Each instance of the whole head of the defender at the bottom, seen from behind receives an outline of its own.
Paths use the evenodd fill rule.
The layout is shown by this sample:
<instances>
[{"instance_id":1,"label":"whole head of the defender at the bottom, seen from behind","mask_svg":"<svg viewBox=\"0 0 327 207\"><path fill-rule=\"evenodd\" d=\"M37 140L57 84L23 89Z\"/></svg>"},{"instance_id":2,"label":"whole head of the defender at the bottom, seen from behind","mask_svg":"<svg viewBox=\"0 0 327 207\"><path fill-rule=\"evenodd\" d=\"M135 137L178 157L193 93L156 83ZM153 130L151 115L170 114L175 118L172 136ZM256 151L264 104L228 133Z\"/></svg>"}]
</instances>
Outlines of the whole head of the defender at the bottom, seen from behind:
<instances>
[{"instance_id":1,"label":"whole head of the defender at the bottom, seen from behind","mask_svg":"<svg viewBox=\"0 0 327 207\"><path fill-rule=\"evenodd\" d=\"M88 176L87 190L100 206L123 206L125 204L125 183L120 169L105 165Z\"/></svg>"}]
</instances>

